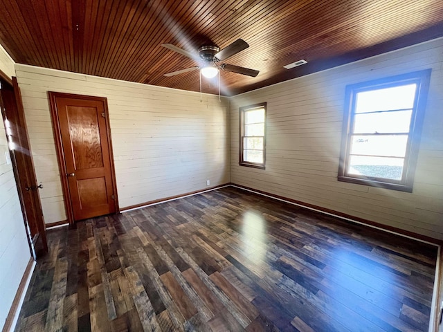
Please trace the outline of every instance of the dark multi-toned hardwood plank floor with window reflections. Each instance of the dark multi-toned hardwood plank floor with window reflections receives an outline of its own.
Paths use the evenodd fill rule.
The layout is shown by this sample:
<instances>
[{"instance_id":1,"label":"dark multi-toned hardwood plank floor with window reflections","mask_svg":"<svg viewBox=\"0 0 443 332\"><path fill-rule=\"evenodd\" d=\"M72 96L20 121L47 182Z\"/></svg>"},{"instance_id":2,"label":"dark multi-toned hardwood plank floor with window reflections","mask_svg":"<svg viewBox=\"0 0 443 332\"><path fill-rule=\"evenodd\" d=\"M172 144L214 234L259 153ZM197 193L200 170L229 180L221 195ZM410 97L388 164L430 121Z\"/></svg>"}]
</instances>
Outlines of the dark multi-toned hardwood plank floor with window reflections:
<instances>
[{"instance_id":1,"label":"dark multi-toned hardwood plank floor with window reflections","mask_svg":"<svg viewBox=\"0 0 443 332\"><path fill-rule=\"evenodd\" d=\"M437 247L235 187L48 231L16 331L427 331Z\"/></svg>"}]
</instances>

